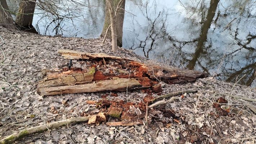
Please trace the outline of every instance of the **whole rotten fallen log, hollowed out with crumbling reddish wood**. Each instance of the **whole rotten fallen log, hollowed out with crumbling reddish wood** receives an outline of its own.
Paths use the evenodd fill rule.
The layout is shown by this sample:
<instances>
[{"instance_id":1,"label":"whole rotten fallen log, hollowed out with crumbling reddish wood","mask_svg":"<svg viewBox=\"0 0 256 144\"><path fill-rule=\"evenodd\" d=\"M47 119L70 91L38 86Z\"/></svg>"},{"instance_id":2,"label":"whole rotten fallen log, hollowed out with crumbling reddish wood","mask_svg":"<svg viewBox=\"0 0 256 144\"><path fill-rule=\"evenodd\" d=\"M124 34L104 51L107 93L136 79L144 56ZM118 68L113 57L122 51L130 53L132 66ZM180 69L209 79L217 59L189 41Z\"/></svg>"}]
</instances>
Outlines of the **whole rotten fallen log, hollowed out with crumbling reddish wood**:
<instances>
[{"instance_id":1,"label":"whole rotten fallen log, hollowed out with crumbling reddish wood","mask_svg":"<svg viewBox=\"0 0 256 144\"><path fill-rule=\"evenodd\" d=\"M42 95L126 91L152 86L154 92L161 93L161 85L155 86L159 81L177 84L208 76L203 72L144 64L106 54L74 50L58 50L58 53L66 59L86 61L88 69L63 68L62 73L49 71L47 77L39 81L37 86L38 92Z\"/></svg>"}]
</instances>

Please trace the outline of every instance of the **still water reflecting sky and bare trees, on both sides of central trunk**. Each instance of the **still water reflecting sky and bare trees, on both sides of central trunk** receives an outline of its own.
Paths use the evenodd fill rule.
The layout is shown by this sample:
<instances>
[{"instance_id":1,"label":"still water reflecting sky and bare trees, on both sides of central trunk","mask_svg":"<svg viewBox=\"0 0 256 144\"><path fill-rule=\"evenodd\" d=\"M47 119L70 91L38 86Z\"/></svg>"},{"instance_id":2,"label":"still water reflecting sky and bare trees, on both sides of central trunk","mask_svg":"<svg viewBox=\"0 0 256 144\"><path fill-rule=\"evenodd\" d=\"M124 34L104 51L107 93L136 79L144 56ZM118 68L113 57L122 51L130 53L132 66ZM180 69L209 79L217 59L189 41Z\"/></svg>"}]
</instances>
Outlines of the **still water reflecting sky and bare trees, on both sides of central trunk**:
<instances>
[{"instance_id":1,"label":"still water reflecting sky and bare trees, on both sides of central trunk","mask_svg":"<svg viewBox=\"0 0 256 144\"><path fill-rule=\"evenodd\" d=\"M36 15L42 35L99 37L102 0L85 0L76 20ZM256 6L253 0L126 0L123 48L220 80L256 86ZM41 12L37 10L37 12Z\"/></svg>"}]
</instances>

